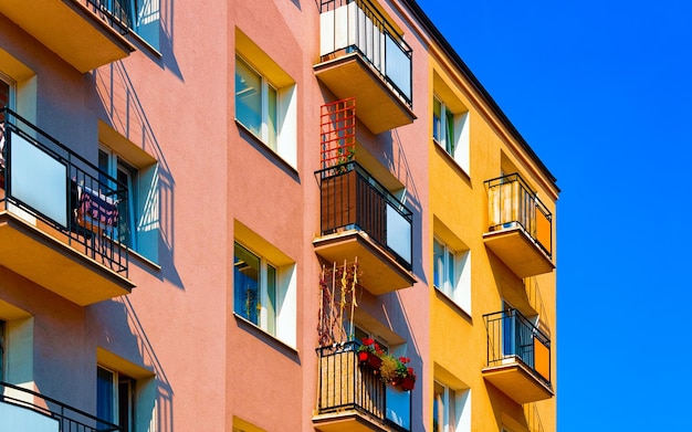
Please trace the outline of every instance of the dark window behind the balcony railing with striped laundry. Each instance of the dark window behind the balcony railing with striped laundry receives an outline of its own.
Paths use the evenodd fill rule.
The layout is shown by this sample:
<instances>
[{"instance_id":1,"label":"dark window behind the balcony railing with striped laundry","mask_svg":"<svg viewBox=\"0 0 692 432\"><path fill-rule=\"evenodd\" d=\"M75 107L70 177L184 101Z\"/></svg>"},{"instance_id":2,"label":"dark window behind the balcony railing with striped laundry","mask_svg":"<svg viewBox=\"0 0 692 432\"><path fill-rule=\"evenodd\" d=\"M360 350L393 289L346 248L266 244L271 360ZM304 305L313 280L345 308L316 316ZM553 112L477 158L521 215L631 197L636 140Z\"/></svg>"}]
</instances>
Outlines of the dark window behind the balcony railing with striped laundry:
<instances>
[{"instance_id":1,"label":"dark window behind the balcony railing with striped laundry","mask_svg":"<svg viewBox=\"0 0 692 432\"><path fill-rule=\"evenodd\" d=\"M137 221L135 219L138 189L137 169L106 148L98 149L98 168L119 183L127 186L127 202L122 201L118 203L118 223L113 235L123 244L136 251L137 238L134 226L136 226L135 223ZM108 185L111 188L117 189L115 185L109 185L111 181L103 176L98 181L102 185Z\"/></svg>"}]
</instances>

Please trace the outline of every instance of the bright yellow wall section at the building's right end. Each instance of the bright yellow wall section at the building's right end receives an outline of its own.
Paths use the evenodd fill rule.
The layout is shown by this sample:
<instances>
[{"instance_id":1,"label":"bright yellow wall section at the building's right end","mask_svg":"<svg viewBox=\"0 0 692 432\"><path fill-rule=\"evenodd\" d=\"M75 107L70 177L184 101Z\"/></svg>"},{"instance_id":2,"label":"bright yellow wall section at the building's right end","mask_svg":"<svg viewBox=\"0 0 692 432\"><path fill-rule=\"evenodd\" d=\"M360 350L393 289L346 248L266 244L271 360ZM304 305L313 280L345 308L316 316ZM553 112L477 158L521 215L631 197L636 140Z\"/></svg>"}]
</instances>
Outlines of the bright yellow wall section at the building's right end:
<instances>
[{"instance_id":1,"label":"bright yellow wall section at the building's right end","mask_svg":"<svg viewBox=\"0 0 692 432\"><path fill-rule=\"evenodd\" d=\"M469 110L470 167L462 169L439 145L428 140L429 199L427 213L431 234L440 235L451 246L461 244L471 250L471 310L466 314L444 294L433 287L432 244L424 245L430 268L430 362L428 371L436 380L462 389L471 388L472 430L499 431L504 426L514 432L536 429L534 410L543 431L556 430L556 399L534 404L517 404L492 384L486 383L481 370L486 365L487 343L483 315L502 309L502 299L518 298L522 305L538 309L530 298L524 281L514 275L483 243L487 231L487 197L485 180L501 176L501 167L515 168L537 190L541 200L555 217L558 193L552 179L546 178L531 156L502 127L487 104L459 73L452 72L434 46L429 51L430 99L427 122L432 137L432 94L452 99ZM443 84L442 84L443 83ZM445 101L447 102L447 101ZM555 239L555 219L553 221ZM432 235L430 235L432 239ZM453 244L451 243L453 242ZM555 256L555 240L553 242ZM555 271L536 276L543 299L542 319L551 326L552 381L556 388L555 344ZM518 307L518 306L517 306ZM523 307L528 309L528 307ZM432 383L430 383L432 386ZM432 407L432 404L430 404ZM535 408L534 408L535 407ZM531 411L531 412L530 412ZM537 429L536 429L537 430Z\"/></svg>"}]
</instances>

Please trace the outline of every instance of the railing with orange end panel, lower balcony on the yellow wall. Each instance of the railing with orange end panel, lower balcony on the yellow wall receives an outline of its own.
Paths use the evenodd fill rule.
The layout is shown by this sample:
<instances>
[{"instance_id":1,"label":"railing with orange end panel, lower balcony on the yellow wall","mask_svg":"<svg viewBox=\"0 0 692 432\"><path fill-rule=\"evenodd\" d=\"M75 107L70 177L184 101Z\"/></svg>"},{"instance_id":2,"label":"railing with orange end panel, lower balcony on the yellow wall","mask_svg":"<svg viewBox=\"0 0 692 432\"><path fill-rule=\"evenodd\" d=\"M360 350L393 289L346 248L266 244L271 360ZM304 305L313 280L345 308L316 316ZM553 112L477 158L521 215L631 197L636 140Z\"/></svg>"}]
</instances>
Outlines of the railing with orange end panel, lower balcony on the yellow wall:
<instances>
[{"instance_id":1,"label":"railing with orange end panel, lower balcony on the yellow wall","mask_svg":"<svg viewBox=\"0 0 692 432\"><path fill-rule=\"evenodd\" d=\"M522 362L551 386L551 339L517 309L483 315L487 331L487 366Z\"/></svg>"}]
</instances>

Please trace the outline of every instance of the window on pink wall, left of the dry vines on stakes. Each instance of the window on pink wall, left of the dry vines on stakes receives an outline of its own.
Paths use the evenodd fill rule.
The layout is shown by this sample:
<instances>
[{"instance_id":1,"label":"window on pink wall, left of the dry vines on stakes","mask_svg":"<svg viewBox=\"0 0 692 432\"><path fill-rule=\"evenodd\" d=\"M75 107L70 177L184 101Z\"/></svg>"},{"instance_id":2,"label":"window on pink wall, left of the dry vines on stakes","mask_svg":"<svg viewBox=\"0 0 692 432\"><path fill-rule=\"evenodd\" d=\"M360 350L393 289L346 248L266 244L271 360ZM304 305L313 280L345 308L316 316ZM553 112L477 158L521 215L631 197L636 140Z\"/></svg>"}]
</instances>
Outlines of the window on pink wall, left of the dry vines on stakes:
<instances>
[{"instance_id":1,"label":"window on pink wall, left of the dry vines on stakes","mask_svg":"<svg viewBox=\"0 0 692 432\"><path fill-rule=\"evenodd\" d=\"M233 312L295 346L295 263L281 252L264 247L259 244L266 252L262 255L238 241L234 243Z\"/></svg>"}]
</instances>

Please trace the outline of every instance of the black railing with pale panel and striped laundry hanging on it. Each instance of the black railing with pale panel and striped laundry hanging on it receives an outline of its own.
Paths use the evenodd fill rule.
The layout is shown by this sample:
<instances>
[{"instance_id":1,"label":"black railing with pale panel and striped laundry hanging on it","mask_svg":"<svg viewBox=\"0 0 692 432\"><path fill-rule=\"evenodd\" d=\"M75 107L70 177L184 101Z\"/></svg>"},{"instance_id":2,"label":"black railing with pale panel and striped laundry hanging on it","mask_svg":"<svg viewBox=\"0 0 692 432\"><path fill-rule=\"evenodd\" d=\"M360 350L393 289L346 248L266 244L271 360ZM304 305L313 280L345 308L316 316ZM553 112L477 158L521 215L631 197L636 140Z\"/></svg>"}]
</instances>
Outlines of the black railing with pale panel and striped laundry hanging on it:
<instances>
[{"instance_id":1,"label":"black railing with pale panel and striped laundry hanging on it","mask_svg":"<svg viewBox=\"0 0 692 432\"><path fill-rule=\"evenodd\" d=\"M0 189L4 210L29 213L128 276L127 186L8 108L0 109Z\"/></svg>"}]
</instances>

